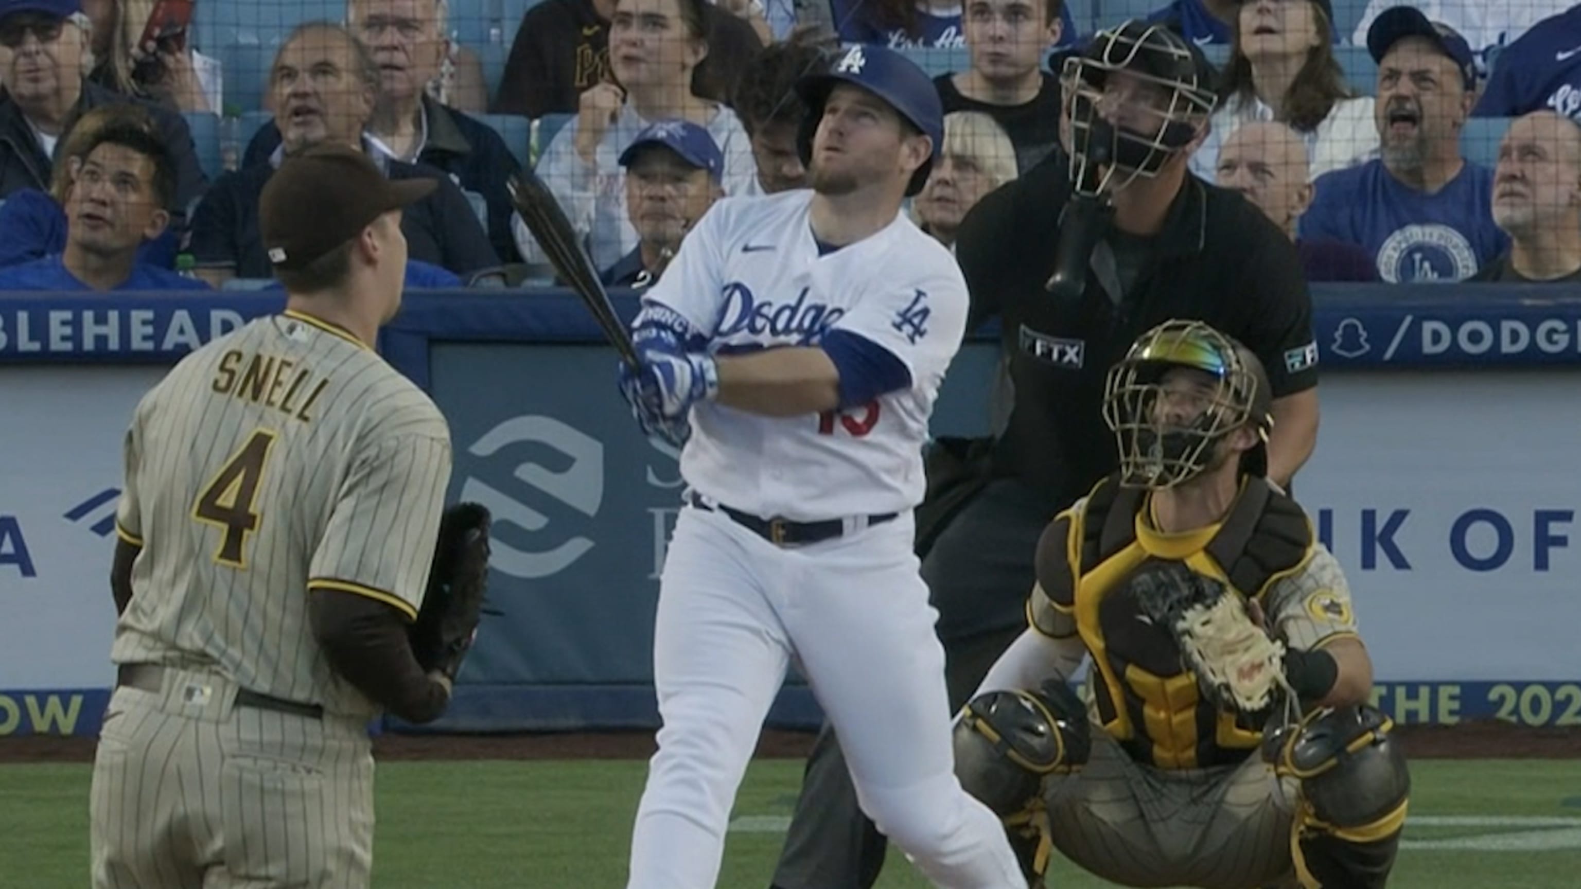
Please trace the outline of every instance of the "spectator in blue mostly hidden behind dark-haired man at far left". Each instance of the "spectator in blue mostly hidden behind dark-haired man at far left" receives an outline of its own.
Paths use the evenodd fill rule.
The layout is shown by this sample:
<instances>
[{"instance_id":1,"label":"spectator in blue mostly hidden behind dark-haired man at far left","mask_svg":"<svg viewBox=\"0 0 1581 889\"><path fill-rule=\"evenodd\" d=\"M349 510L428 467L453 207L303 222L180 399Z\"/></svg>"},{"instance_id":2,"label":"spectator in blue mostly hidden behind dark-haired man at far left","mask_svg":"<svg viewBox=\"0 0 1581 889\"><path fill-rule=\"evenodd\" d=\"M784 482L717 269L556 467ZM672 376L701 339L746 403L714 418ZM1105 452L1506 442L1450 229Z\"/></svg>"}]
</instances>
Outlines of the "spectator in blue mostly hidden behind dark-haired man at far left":
<instances>
[{"instance_id":1,"label":"spectator in blue mostly hidden behind dark-haired man at far left","mask_svg":"<svg viewBox=\"0 0 1581 889\"><path fill-rule=\"evenodd\" d=\"M101 104L84 114L60 141L60 163L49 174L49 191L24 188L0 204L0 269L43 259L66 248L71 176L81 169L93 138L111 123L133 125L150 134L160 131L141 104ZM160 237L138 248L138 263L174 269L175 250L175 231L166 226Z\"/></svg>"}]
</instances>

